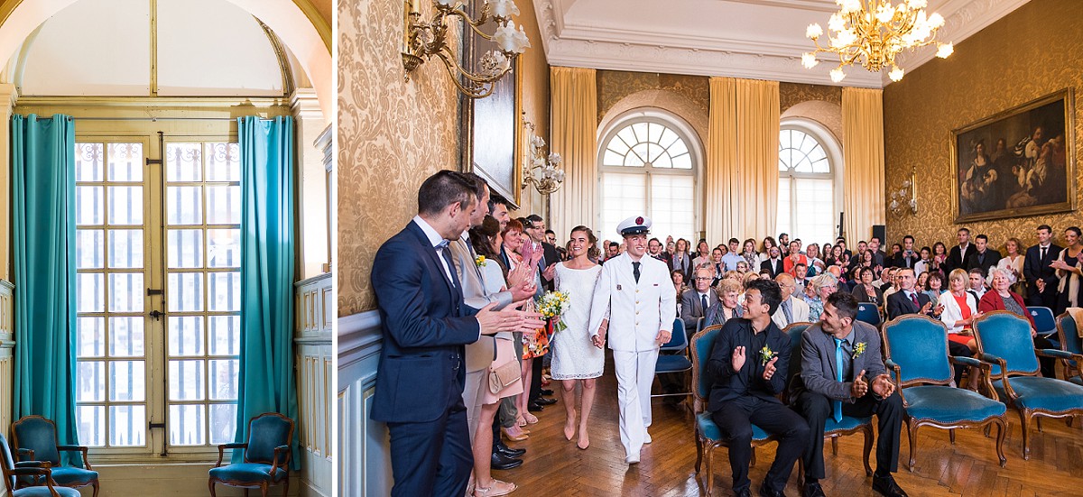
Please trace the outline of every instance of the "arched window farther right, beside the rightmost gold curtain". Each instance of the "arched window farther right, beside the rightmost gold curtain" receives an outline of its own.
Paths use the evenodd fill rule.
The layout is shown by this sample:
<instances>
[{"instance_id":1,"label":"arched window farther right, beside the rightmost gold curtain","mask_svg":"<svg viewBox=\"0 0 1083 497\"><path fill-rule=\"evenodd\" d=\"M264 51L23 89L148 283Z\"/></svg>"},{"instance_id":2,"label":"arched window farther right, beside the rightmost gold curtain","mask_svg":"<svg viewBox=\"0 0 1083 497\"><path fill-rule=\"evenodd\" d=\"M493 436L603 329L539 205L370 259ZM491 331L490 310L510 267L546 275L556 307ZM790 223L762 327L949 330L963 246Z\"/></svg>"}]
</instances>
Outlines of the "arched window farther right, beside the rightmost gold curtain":
<instances>
[{"instance_id":1,"label":"arched window farther right, beside the rightmost gold curtain","mask_svg":"<svg viewBox=\"0 0 1083 497\"><path fill-rule=\"evenodd\" d=\"M806 122L779 133L779 233L804 245L835 241L837 145ZM818 136L819 135L819 136Z\"/></svg>"}]
</instances>

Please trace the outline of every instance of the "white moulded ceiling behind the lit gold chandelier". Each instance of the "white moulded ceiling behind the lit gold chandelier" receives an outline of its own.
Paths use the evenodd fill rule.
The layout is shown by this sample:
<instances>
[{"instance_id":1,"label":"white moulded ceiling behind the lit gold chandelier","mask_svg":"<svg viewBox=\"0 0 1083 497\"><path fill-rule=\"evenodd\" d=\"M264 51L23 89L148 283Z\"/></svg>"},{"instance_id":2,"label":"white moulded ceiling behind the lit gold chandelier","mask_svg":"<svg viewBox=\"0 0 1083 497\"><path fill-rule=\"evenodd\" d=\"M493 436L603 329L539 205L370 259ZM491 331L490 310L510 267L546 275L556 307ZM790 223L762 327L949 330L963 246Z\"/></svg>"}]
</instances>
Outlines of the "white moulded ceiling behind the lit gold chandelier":
<instances>
[{"instance_id":1,"label":"white moulded ceiling behind the lit gold chandelier","mask_svg":"<svg viewBox=\"0 0 1083 497\"><path fill-rule=\"evenodd\" d=\"M929 0L944 16L940 41L958 43L1029 0ZM834 0L535 0L550 65L835 84L837 58L811 51L805 28L838 10ZM934 57L926 47L898 58L912 70ZM846 68L847 87L883 88L886 71Z\"/></svg>"}]
</instances>

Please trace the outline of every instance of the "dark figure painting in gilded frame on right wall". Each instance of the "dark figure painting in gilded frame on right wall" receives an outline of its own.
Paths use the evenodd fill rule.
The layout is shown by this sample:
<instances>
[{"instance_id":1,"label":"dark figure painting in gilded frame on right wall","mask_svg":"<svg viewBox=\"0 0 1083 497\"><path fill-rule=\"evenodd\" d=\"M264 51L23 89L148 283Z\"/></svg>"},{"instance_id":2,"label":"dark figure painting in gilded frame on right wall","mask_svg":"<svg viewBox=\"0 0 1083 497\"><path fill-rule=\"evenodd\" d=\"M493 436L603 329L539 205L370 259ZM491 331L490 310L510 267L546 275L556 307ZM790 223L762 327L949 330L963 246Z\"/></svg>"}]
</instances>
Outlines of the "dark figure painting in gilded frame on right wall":
<instances>
[{"instance_id":1,"label":"dark figure painting in gilded frame on right wall","mask_svg":"<svg viewBox=\"0 0 1083 497\"><path fill-rule=\"evenodd\" d=\"M955 222L1074 209L1072 89L952 131Z\"/></svg>"}]
</instances>

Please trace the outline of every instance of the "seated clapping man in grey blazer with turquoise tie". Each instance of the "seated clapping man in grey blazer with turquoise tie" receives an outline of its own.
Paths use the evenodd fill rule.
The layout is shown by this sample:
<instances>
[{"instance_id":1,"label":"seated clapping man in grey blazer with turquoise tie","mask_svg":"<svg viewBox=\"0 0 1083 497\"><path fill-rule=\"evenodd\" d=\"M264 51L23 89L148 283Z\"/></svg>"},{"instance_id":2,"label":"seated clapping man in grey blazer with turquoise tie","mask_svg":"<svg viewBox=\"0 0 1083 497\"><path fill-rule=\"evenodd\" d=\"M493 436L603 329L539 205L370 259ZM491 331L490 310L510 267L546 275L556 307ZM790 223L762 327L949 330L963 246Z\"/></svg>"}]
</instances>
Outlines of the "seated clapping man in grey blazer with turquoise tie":
<instances>
[{"instance_id":1,"label":"seated clapping man in grey blazer with turquoise tie","mask_svg":"<svg viewBox=\"0 0 1083 497\"><path fill-rule=\"evenodd\" d=\"M801 374L794 379L791 405L809 423L805 449L804 497L823 496L823 431L828 417L876 415L876 473L873 489L888 497L906 493L891 478L899 466L902 397L880 358L879 333L856 321L858 301L849 293L827 298L820 323L801 335Z\"/></svg>"}]
</instances>

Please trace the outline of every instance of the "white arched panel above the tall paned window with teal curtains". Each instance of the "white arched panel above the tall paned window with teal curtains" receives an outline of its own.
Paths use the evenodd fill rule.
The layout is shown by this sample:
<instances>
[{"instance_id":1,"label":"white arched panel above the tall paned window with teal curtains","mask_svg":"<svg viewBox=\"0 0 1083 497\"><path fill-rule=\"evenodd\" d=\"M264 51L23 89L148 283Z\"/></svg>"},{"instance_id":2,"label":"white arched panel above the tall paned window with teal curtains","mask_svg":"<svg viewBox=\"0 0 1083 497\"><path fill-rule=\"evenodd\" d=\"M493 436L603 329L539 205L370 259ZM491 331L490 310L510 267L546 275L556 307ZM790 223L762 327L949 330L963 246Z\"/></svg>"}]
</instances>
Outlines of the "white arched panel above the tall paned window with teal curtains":
<instances>
[{"instance_id":1,"label":"white arched panel above the tall paned window with teal curtains","mask_svg":"<svg viewBox=\"0 0 1083 497\"><path fill-rule=\"evenodd\" d=\"M290 73L260 23L226 0L80 0L13 58L21 95L149 96L155 86L159 96L282 96Z\"/></svg>"}]
</instances>

